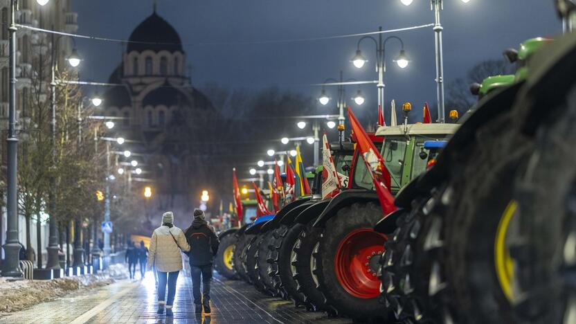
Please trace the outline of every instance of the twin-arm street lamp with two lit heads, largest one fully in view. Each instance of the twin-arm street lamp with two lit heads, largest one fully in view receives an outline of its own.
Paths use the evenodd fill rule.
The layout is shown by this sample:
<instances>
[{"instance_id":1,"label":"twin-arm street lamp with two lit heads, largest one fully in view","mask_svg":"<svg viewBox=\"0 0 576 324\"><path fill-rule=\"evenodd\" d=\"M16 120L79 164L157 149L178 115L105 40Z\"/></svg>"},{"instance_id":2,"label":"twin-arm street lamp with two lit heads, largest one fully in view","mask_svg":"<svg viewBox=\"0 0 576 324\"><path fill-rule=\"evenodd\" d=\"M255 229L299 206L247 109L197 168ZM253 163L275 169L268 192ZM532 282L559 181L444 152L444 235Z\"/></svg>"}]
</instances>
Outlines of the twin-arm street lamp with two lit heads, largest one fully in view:
<instances>
[{"instance_id":1,"label":"twin-arm street lamp with two lit heads, largest one fully in view","mask_svg":"<svg viewBox=\"0 0 576 324\"><path fill-rule=\"evenodd\" d=\"M381 31L382 27L380 26L378 30ZM384 115L384 72L386 72L386 42L388 42L390 39L396 39L400 42L400 53L395 60L400 69L404 69L406 66L408 66L408 59L406 58L406 53L404 52L404 42L402 42L402 39L397 36L389 36L382 40L382 33L378 34L378 40L372 36L361 37L361 39L358 40L356 55L354 55L352 58L352 63L358 69L364 66L364 63L368 62L366 58L362 56L362 52L360 51L360 43L364 39L372 39L376 45L376 71L378 73L378 83L376 84L376 87L378 89L378 106Z\"/></svg>"}]
</instances>

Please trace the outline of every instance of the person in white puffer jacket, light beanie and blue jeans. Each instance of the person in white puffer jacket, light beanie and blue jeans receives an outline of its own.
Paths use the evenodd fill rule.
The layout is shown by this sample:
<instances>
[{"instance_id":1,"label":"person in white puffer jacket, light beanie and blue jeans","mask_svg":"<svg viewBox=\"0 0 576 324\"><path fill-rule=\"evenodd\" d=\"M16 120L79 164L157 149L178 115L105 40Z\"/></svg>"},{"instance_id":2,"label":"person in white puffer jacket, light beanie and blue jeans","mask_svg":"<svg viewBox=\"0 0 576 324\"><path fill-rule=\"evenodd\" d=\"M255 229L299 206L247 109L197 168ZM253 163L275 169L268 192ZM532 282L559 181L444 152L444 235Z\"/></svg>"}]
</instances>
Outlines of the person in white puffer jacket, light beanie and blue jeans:
<instances>
[{"instance_id":1,"label":"person in white puffer jacket, light beanie and blue jeans","mask_svg":"<svg viewBox=\"0 0 576 324\"><path fill-rule=\"evenodd\" d=\"M182 255L190 251L183 231L174 226L174 214L166 212L162 215L162 226L156 228L150 238L147 268L156 269L158 276L158 314L173 316L172 303L176 296L176 282L182 269ZM168 298L166 298L168 285Z\"/></svg>"}]
</instances>

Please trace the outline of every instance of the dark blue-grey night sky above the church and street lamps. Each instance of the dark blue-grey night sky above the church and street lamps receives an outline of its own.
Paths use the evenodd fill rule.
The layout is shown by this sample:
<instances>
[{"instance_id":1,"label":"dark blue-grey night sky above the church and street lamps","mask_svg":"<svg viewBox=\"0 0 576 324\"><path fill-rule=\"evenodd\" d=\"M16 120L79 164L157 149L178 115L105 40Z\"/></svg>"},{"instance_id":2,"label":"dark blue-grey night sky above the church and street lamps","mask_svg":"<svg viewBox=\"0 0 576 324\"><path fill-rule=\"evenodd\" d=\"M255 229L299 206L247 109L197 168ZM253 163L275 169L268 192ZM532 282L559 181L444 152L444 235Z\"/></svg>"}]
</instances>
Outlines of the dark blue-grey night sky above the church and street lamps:
<instances>
[{"instance_id":1,"label":"dark blue-grey night sky above the church and street lamps","mask_svg":"<svg viewBox=\"0 0 576 324\"><path fill-rule=\"evenodd\" d=\"M404 6L399 0L159 0L159 15L170 21L186 46L192 64L192 84L206 82L258 89L276 85L318 96L320 89L306 84L336 78L375 80L375 46L363 42L368 57L363 69L350 59L358 37L286 44L209 45L210 42L251 42L272 39L322 37L366 33L433 22L429 1L415 0ZM519 4L522 3L521 6ZM78 33L127 39L152 12L152 0L75 1ZM505 48L517 47L524 39L555 35L561 26L552 0L444 0L444 75L446 82L458 78L475 63L501 57ZM411 101L420 106L435 102L434 37L431 28L393 33L404 39L411 65L400 70L392 60L399 44L388 42L386 102ZM106 81L120 62L123 45L78 40L84 57L82 79ZM351 98L357 88L349 87ZM375 85L363 85L368 100L361 109L374 109ZM335 89L330 89L333 97ZM351 102L352 100L348 100ZM354 107L354 106L352 106ZM449 109L450 107L447 107ZM357 108L360 109L360 108ZM318 113L334 113L318 107Z\"/></svg>"}]
</instances>

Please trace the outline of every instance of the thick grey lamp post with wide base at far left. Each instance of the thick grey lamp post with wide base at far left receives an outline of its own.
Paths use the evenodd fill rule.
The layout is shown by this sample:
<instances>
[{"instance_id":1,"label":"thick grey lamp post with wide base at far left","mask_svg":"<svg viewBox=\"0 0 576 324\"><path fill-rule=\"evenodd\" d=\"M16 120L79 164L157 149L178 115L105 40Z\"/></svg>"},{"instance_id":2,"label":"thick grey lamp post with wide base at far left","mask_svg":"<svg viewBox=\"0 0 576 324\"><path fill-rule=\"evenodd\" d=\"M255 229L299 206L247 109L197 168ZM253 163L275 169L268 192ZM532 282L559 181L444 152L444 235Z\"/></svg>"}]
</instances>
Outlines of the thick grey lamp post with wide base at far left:
<instances>
[{"instance_id":1,"label":"thick grey lamp post with wide base at far left","mask_svg":"<svg viewBox=\"0 0 576 324\"><path fill-rule=\"evenodd\" d=\"M16 135L16 10L17 0L10 0L10 27L8 32L10 34L10 91L8 102L8 137L6 143L8 144L8 163L7 163L7 179L8 190L6 192L6 212L7 212L7 226L6 226L6 244L4 244L4 251L6 251L6 260L2 264L2 276L5 277L21 277L22 273L19 270L19 251L20 244L18 244L18 214L17 214L17 145L18 138Z\"/></svg>"}]
</instances>

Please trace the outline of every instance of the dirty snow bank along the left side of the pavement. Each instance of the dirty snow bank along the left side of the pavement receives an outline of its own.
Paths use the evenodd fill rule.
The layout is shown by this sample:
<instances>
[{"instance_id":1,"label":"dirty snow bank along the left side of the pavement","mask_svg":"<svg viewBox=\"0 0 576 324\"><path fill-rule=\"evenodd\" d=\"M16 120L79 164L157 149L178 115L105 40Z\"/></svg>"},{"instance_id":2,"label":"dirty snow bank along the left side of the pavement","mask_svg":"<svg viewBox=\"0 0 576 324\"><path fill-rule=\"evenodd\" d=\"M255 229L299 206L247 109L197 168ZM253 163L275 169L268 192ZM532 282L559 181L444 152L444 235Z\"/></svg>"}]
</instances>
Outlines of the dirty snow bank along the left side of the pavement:
<instances>
[{"instance_id":1,"label":"dirty snow bank along the left side of the pavement","mask_svg":"<svg viewBox=\"0 0 576 324\"><path fill-rule=\"evenodd\" d=\"M125 264L111 264L100 273L53 280L17 280L0 277L0 315L44 303L74 291L93 289L127 278Z\"/></svg>"}]
</instances>

